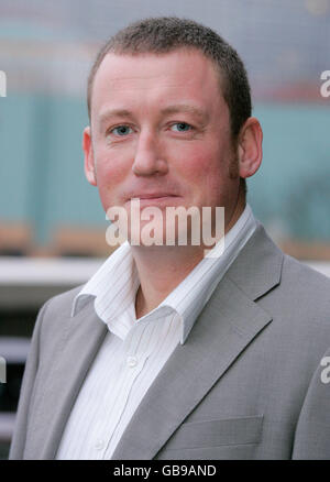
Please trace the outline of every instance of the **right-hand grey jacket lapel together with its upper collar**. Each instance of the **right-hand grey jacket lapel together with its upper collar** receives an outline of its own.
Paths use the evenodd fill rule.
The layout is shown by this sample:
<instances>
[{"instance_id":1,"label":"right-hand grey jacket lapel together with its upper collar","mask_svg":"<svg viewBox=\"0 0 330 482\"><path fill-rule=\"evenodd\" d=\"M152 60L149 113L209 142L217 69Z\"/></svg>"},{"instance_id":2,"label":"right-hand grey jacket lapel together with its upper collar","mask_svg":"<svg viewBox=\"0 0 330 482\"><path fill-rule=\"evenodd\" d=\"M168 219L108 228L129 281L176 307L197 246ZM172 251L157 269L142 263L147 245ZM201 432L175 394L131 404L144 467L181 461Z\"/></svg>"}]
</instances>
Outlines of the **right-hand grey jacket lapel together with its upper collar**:
<instances>
[{"instance_id":1,"label":"right-hand grey jacket lapel together with its upper collar","mask_svg":"<svg viewBox=\"0 0 330 482\"><path fill-rule=\"evenodd\" d=\"M253 299L279 283L282 262L282 252L260 226L219 283L186 343L175 349L147 391L113 460L153 459L242 350L272 321Z\"/></svg>"}]
</instances>

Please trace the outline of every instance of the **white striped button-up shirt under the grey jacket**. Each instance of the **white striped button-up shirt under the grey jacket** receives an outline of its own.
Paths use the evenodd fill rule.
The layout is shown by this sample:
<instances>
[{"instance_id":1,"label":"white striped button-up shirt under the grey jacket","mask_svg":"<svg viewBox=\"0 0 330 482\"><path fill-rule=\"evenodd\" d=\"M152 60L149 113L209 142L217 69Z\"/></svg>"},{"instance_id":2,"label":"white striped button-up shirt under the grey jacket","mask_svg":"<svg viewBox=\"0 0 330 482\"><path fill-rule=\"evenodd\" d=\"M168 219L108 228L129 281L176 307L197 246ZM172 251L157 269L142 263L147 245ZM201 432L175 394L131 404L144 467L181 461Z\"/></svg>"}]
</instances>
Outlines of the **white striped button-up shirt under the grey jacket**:
<instances>
[{"instance_id":1,"label":"white striped button-up shirt under the grey jacket","mask_svg":"<svg viewBox=\"0 0 330 482\"><path fill-rule=\"evenodd\" d=\"M109 331L73 407L56 459L111 459L146 391L177 344L185 343L255 227L246 205L224 237L223 253L204 258L155 309L138 320L140 281L130 244L123 243L108 258L74 302L73 316L95 297L95 310Z\"/></svg>"}]
</instances>

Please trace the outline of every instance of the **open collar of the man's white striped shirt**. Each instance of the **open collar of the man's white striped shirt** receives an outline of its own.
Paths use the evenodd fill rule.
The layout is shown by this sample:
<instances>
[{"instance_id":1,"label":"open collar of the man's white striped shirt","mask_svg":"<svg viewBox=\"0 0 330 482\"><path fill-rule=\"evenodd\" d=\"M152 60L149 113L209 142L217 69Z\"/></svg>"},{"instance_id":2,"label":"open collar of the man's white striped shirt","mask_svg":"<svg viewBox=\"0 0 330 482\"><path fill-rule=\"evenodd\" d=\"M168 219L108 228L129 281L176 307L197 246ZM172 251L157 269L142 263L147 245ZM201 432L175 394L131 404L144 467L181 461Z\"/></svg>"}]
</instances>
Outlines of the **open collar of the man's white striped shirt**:
<instances>
[{"instance_id":1,"label":"open collar of the man's white striped shirt","mask_svg":"<svg viewBox=\"0 0 330 482\"><path fill-rule=\"evenodd\" d=\"M184 343L201 309L212 295L218 283L238 256L256 228L252 209L246 205L243 213L231 230L210 250L207 258L152 311L139 319L145 322L153 317L177 313L182 318L182 340ZM222 243L222 244L221 244ZM219 255L218 255L219 253ZM119 317L135 299L140 281L131 247L125 241L100 266L95 275L78 293L73 303L75 316L90 297L95 297L95 309L105 322Z\"/></svg>"}]
</instances>

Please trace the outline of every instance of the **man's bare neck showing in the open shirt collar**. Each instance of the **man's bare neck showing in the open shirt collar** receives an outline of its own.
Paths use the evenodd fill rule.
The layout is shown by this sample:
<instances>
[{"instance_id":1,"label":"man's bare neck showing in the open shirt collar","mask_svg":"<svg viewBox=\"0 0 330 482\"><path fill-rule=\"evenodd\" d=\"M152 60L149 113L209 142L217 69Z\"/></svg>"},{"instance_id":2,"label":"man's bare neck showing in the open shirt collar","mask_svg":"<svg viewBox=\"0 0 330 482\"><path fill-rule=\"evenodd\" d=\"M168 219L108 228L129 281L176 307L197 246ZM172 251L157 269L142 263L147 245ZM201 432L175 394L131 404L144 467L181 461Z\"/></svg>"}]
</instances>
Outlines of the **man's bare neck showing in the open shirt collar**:
<instances>
[{"instance_id":1,"label":"man's bare neck showing in the open shirt collar","mask_svg":"<svg viewBox=\"0 0 330 482\"><path fill-rule=\"evenodd\" d=\"M227 233L245 207L239 196L235 208L226 223ZM131 247L140 287L136 293L136 319L156 308L202 260L205 247ZM209 249L209 247L208 247Z\"/></svg>"}]
</instances>

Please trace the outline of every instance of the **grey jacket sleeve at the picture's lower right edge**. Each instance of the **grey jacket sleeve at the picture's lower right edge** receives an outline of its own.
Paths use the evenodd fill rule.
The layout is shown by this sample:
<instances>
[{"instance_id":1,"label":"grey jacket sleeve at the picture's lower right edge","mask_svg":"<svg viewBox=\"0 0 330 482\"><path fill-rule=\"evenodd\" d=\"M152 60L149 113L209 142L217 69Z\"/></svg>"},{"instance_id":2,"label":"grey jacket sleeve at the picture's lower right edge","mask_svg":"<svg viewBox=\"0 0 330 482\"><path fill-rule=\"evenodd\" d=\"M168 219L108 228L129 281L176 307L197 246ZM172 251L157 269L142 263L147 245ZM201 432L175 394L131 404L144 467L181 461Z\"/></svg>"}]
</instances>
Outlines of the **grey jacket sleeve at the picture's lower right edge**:
<instances>
[{"instance_id":1,"label":"grey jacket sleeve at the picture's lower right edge","mask_svg":"<svg viewBox=\"0 0 330 482\"><path fill-rule=\"evenodd\" d=\"M308 387L292 458L330 460L330 349L320 359Z\"/></svg>"}]
</instances>

